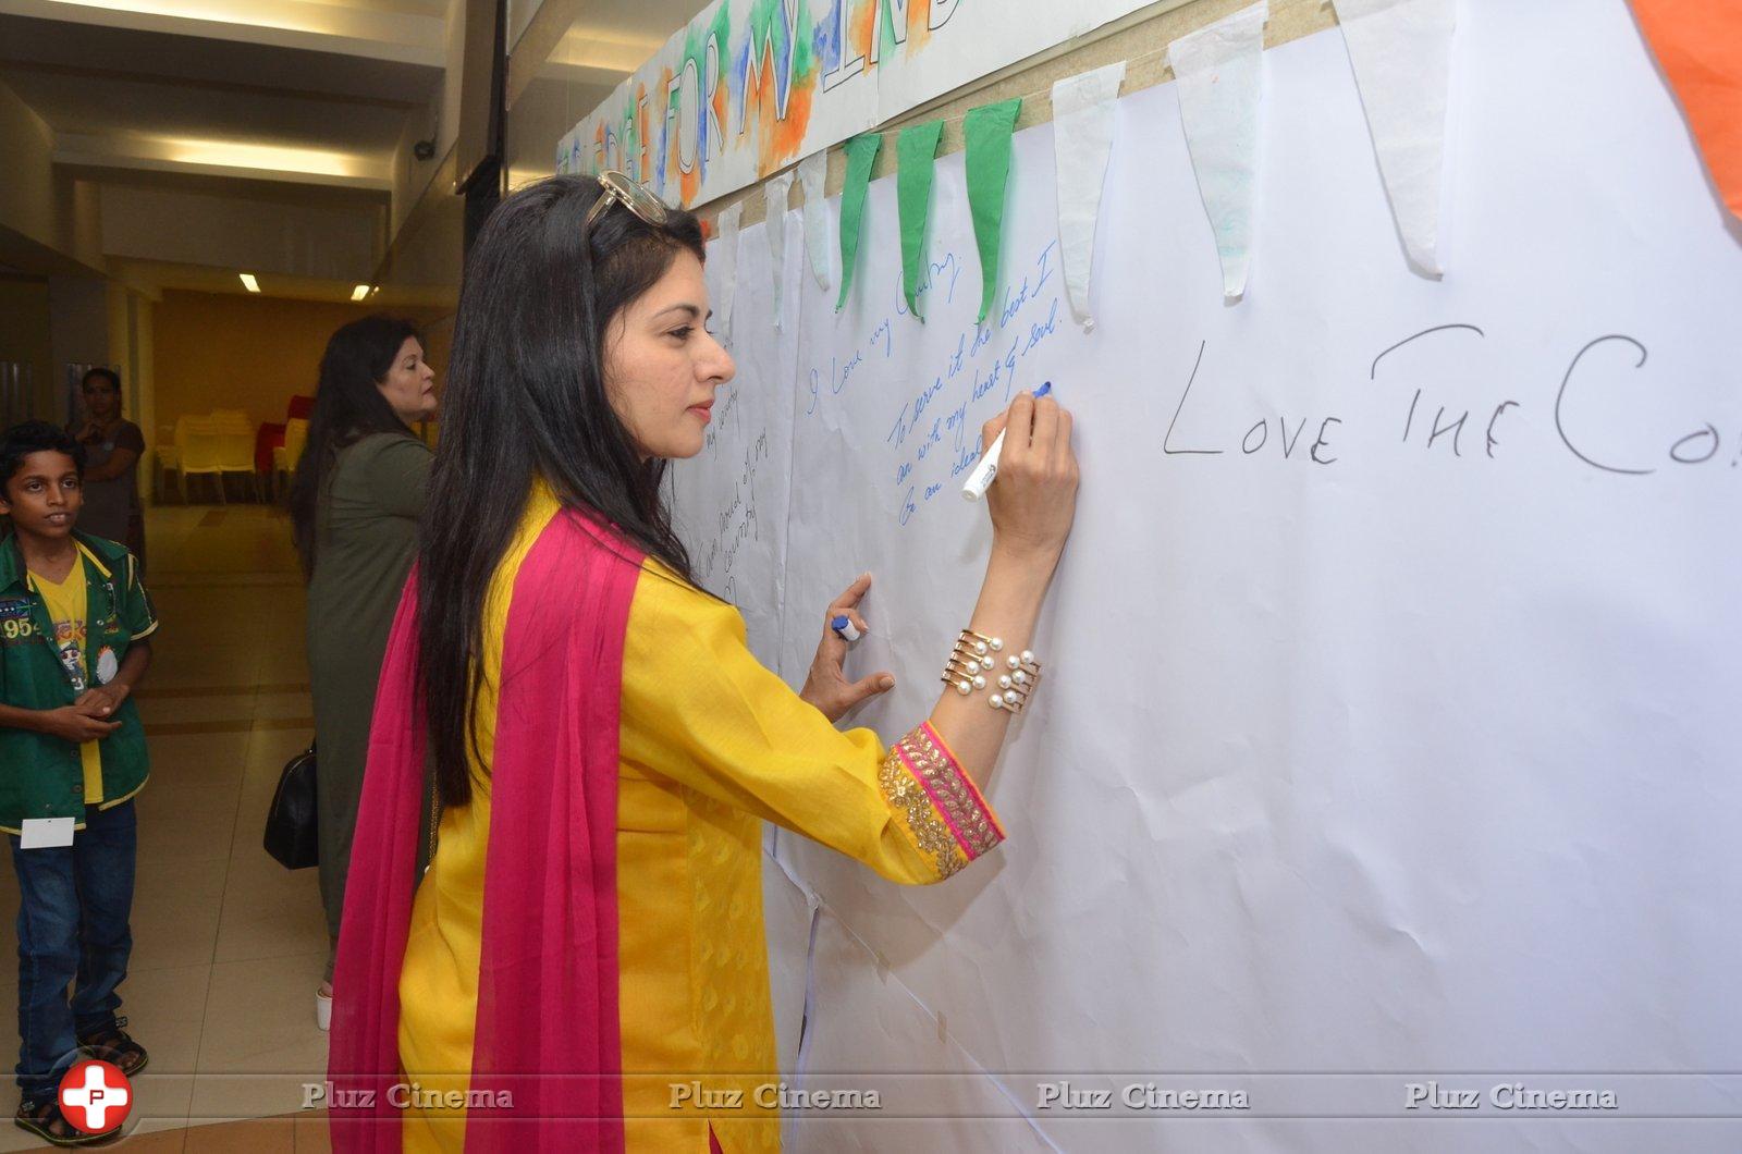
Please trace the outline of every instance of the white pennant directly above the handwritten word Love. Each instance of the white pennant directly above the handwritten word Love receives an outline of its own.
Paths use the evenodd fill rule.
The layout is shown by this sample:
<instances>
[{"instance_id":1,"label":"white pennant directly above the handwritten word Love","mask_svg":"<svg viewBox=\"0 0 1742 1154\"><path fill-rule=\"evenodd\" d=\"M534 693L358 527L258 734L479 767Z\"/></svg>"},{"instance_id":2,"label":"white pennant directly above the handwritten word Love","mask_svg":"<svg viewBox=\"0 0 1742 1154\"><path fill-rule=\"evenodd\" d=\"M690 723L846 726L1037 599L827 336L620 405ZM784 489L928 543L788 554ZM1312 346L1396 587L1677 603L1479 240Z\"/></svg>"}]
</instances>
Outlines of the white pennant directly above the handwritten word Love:
<instances>
[{"instance_id":1,"label":"white pennant directly above the handwritten word Love","mask_svg":"<svg viewBox=\"0 0 1742 1154\"><path fill-rule=\"evenodd\" d=\"M1265 54L1263 2L1167 45L1179 80L1179 122L1204 195L1226 300L1246 293L1258 192L1258 103Z\"/></svg>"}]
</instances>

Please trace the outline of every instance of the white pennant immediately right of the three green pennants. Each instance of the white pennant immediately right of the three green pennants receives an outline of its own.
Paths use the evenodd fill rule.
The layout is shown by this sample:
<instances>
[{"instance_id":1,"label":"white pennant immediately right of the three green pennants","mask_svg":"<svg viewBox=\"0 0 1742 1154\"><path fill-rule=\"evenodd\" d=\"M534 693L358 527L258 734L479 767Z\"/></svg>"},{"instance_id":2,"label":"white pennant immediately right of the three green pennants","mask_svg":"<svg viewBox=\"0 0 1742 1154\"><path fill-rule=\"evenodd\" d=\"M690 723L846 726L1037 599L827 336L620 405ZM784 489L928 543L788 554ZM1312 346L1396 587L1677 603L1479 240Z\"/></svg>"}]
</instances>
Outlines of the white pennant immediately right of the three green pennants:
<instances>
[{"instance_id":1,"label":"white pennant immediately right of the three green pennants","mask_svg":"<svg viewBox=\"0 0 1742 1154\"><path fill-rule=\"evenodd\" d=\"M1089 316L1089 274L1094 265L1094 227L1101 214L1101 185L1113 152L1113 101L1125 78L1125 61L1066 77L1052 85L1052 159L1059 183L1059 263L1071 314L1084 331Z\"/></svg>"}]
</instances>

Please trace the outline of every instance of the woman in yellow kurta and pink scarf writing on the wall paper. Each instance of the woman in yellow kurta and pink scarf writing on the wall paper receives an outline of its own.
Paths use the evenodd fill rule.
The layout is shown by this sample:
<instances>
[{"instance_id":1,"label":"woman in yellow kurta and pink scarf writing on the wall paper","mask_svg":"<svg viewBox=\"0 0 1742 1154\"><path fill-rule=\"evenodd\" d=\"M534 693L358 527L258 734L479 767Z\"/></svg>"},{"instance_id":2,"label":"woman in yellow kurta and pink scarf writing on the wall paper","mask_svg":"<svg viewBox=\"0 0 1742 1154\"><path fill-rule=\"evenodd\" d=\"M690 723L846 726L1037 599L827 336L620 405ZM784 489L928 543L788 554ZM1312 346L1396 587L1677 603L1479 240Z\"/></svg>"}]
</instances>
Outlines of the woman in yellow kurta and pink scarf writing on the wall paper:
<instances>
[{"instance_id":1,"label":"woman in yellow kurta and pink scarf writing on the wall paper","mask_svg":"<svg viewBox=\"0 0 1742 1154\"><path fill-rule=\"evenodd\" d=\"M970 770L991 767L1010 709L988 708L977 666L885 748L833 722L887 675L845 682L824 629L794 694L686 577L658 478L700 451L733 373L706 317L695 218L615 174L523 190L476 242L434 516L378 694L357 835L373 884L345 908L341 1149L777 1149L753 1093L777 1079L760 823L908 884L1003 837ZM1077 486L1068 413L1024 394L988 443L1005 422L963 635L988 671L1000 648L1017 669ZM827 615L864 628L868 586ZM425 725L430 832L415 828ZM692 1083L707 1093L676 1102Z\"/></svg>"}]
</instances>

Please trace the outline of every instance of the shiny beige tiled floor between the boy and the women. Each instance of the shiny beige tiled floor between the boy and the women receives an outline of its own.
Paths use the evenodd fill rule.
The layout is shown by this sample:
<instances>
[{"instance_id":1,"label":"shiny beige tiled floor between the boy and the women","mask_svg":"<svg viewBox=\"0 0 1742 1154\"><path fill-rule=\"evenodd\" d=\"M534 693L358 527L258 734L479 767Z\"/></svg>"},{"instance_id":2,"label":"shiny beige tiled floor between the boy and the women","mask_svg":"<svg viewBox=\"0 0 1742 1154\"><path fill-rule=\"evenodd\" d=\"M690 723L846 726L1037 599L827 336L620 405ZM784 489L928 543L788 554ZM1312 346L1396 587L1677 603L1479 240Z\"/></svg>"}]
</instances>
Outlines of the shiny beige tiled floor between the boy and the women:
<instances>
[{"instance_id":1,"label":"shiny beige tiled floor between the boy and the women","mask_svg":"<svg viewBox=\"0 0 1742 1154\"><path fill-rule=\"evenodd\" d=\"M289 521L260 506L162 507L148 542L164 624L138 696L152 781L138 802L134 950L120 994L152 1065L136 1083L132 1137L115 1149L326 1149L322 1116L300 1112L303 1084L326 1070L314 1023L321 894L314 870L287 872L260 847L279 770L314 732ZM0 959L16 954L16 912L7 865ZM0 1002L16 1004L16 992L5 966ZM0 1048L17 1053L16 1028ZM0 1151L31 1145L0 1121Z\"/></svg>"}]
</instances>

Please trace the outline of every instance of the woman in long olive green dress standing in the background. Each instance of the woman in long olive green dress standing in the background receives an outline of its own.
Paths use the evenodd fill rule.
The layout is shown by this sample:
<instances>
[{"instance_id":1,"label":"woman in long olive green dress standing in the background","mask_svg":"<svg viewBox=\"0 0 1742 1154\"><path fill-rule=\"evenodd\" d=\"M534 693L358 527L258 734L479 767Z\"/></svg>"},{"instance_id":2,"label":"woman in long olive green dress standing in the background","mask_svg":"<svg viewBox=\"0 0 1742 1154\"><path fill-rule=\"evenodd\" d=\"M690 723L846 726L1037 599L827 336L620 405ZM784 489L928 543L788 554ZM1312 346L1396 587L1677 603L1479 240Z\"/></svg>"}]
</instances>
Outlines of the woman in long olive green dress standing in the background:
<instances>
[{"instance_id":1,"label":"woman in long olive green dress standing in the background","mask_svg":"<svg viewBox=\"0 0 1742 1154\"><path fill-rule=\"evenodd\" d=\"M387 629L416 551L430 448L413 432L436 413L436 370L409 321L345 324L321 357L308 441L291 483L291 525L308 579L308 680L315 706L326 978L315 1022L333 1015L333 959L350 838L369 750Z\"/></svg>"}]
</instances>

